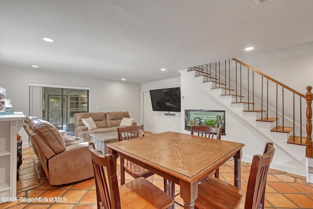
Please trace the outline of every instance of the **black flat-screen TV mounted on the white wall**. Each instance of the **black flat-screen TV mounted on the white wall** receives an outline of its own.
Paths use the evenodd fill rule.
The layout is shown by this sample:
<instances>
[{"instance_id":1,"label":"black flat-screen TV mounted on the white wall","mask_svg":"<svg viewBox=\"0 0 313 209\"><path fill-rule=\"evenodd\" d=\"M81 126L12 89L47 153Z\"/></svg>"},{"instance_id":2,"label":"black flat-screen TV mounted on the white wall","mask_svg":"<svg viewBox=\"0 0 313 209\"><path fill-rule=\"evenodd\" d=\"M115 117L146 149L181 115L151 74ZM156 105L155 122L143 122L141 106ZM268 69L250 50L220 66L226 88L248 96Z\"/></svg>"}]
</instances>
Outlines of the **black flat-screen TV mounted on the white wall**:
<instances>
[{"instance_id":1,"label":"black flat-screen TV mounted on the white wall","mask_svg":"<svg viewBox=\"0 0 313 209\"><path fill-rule=\"evenodd\" d=\"M153 111L180 112L180 87L150 90Z\"/></svg>"}]
</instances>

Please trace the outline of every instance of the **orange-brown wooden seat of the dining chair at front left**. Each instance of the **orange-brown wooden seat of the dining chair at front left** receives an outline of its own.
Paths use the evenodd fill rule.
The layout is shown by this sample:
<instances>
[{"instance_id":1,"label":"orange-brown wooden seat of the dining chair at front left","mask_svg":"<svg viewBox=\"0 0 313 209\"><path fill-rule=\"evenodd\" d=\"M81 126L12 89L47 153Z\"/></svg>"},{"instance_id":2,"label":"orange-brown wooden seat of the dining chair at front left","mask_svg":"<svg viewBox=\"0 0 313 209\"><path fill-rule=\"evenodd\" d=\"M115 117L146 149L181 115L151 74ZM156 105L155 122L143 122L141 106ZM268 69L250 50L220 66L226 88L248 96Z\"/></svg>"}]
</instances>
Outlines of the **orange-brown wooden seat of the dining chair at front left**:
<instances>
[{"instance_id":1,"label":"orange-brown wooden seat of the dining chair at front left","mask_svg":"<svg viewBox=\"0 0 313 209\"><path fill-rule=\"evenodd\" d=\"M120 186L119 193L124 209L166 209L174 204L173 198L143 177Z\"/></svg>"}]
</instances>

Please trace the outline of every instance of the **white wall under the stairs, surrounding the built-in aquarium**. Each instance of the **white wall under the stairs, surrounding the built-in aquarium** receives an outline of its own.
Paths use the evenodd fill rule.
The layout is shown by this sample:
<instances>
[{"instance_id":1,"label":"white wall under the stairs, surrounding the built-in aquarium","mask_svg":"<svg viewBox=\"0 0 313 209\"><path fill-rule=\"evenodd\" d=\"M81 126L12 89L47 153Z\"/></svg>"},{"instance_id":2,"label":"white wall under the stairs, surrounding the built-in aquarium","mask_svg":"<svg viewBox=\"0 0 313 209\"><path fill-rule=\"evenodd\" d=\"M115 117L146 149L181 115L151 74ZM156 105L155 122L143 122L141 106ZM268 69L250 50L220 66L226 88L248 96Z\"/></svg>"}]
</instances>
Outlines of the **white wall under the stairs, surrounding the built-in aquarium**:
<instances>
[{"instance_id":1,"label":"white wall under the stairs, surrounding the built-in aquarium","mask_svg":"<svg viewBox=\"0 0 313 209\"><path fill-rule=\"evenodd\" d=\"M225 110L224 140L238 141L246 144L243 148L243 161L251 162L255 154L262 154L264 145L271 141L276 149L271 167L294 173L301 176L307 175L307 162L305 146L289 144L287 140L290 133L271 132L276 122L256 121L261 118L260 113L244 112L247 106L242 103L231 103L233 96L221 95L222 89L212 89L212 82L202 82L202 76L195 77L194 71L179 70L181 73L181 110L205 109ZM269 116L271 117L271 116ZM272 116L274 117L274 116ZM181 114L181 132L183 130L184 114Z\"/></svg>"}]
</instances>

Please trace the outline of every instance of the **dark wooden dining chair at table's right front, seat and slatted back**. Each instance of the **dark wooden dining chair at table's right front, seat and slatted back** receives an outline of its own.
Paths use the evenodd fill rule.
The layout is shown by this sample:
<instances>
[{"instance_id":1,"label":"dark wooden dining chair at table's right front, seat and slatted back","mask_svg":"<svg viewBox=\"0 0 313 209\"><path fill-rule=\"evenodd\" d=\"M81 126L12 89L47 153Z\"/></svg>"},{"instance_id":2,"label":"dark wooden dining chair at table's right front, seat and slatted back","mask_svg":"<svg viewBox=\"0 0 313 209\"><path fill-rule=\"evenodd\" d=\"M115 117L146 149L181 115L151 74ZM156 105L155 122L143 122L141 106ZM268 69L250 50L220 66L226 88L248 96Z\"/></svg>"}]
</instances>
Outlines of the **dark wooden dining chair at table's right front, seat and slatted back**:
<instances>
[{"instance_id":1,"label":"dark wooden dining chair at table's right front, seat and slatted back","mask_svg":"<svg viewBox=\"0 0 313 209\"><path fill-rule=\"evenodd\" d=\"M208 177L198 185L198 209L264 209L269 164L273 143L266 143L264 154L253 156L246 192L218 178Z\"/></svg>"}]
</instances>

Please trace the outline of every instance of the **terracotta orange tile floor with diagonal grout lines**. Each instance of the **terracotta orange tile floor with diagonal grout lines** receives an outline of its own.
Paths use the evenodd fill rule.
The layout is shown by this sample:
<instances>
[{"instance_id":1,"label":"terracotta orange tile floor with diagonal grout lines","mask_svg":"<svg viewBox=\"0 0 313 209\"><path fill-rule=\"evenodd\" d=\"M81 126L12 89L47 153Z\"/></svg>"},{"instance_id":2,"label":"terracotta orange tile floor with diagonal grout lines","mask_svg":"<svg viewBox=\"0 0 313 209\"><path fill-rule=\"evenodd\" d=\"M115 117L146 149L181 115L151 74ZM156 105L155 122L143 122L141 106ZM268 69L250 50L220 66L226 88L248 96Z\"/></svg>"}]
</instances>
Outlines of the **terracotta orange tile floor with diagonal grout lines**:
<instances>
[{"instance_id":1,"label":"terracotta orange tile floor with diagonal grout lines","mask_svg":"<svg viewBox=\"0 0 313 209\"><path fill-rule=\"evenodd\" d=\"M0 209L96 209L96 191L94 179L74 184L52 186L34 155L31 147L22 149L23 162L20 167L20 180L17 182L18 198L65 197L64 202L11 202L0 205ZM117 161L119 162L119 161ZM119 165L117 165L119 172ZM246 189L250 163L242 162L242 188ZM220 179L233 183L233 161L220 167ZM118 173L119 177L119 173ZM163 189L163 178L153 175L148 178ZM132 177L126 176L126 181ZM179 186L176 186L179 192ZM305 178L279 170L270 169L266 187L266 209L313 209L313 184L307 184ZM176 201L181 202L180 197ZM176 209L181 209L175 205Z\"/></svg>"}]
</instances>

